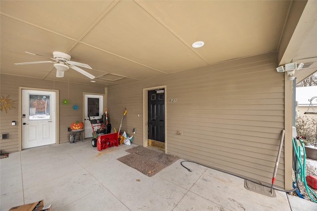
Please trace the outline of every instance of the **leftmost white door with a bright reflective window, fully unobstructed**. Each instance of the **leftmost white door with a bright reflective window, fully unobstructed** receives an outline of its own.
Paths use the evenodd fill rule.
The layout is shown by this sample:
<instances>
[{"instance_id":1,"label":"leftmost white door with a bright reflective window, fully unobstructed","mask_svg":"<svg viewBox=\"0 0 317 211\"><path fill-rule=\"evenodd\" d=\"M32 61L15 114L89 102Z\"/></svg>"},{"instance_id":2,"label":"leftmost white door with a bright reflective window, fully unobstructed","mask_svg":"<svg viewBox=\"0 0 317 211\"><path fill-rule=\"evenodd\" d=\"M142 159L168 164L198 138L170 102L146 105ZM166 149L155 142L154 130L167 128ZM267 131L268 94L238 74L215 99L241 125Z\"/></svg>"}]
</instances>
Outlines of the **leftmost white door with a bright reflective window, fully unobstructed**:
<instances>
[{"instance_id":1,"label":"leftmost white door with a bright reflective window, fully unobstructed","mask_svg":"<svg viewBox=\"0 0 317 211\"><path fill-rule=\"evenodd\" d=\"M56 143L56 95L22 89L22 149Z\"/></svg>"}]
</instances>

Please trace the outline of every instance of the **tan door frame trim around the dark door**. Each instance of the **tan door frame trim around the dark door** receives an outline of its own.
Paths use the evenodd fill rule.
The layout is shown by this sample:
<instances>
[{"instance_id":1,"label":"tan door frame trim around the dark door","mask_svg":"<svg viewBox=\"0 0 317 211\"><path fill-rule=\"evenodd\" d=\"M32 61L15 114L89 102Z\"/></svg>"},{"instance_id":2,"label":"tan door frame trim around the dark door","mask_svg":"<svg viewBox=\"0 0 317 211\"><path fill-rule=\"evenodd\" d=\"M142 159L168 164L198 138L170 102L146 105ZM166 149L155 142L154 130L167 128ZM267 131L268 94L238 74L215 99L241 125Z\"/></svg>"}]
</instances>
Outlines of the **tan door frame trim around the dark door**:
<instances>
[{"instance_id":1,"label":"tan door frame trim around the dark door","mask_svg":"<svg viewBox=\"0 0 317 211\"><path fill-rule=\"evenodd\" d=\"M143 88L143 147L148 143L148 91L164 88L164 130L165 130L165 154L167 154L167 109L166 109L166 85Z\"/></svg>"}]
</instances>

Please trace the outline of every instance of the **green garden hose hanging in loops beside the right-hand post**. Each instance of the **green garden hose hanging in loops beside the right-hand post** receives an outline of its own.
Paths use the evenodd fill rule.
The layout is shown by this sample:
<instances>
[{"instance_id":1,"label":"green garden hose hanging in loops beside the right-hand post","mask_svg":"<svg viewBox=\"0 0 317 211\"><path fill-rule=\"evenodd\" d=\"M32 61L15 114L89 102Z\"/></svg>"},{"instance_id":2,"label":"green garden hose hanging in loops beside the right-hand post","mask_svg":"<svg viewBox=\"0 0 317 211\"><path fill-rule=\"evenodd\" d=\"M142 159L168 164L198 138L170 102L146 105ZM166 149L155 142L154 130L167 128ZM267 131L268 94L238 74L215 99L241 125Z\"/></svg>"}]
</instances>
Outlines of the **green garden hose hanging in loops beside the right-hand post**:
<instances>
[{"instance_id":1,"label":"green garden hose hanging in loops beside the right-hand post","mask_svg":"<svg viewBox=\"0 0 317 211\"><path fill-rule=\"evenodd\" d=\"M302 159L301 159L301 146L296 146L297 144L295 144L295 140L294 138L292 139L293 141L293 148L295 151L295 155L297 158L297 162L299 164L299 169L298 169L298 174L297 174L297 178L298 179L298 175L301 177L301 181L304 183L305 188L306 188L306 192L308 194L308 196L312 199L313 202L317 203L317 195L312 191L312 189L310 187L308 187L307 182L306 182L306 175L305 175L305 165L306 165L306 152L305 152L305 147L304 147L304 142L301 139L298 139L302 145L303 148L303 153L304 153L304 159L303 159L303 163L302 163ZM314 195L315 199L312 197L312 195Z\"/></svg>"}]
</instances>

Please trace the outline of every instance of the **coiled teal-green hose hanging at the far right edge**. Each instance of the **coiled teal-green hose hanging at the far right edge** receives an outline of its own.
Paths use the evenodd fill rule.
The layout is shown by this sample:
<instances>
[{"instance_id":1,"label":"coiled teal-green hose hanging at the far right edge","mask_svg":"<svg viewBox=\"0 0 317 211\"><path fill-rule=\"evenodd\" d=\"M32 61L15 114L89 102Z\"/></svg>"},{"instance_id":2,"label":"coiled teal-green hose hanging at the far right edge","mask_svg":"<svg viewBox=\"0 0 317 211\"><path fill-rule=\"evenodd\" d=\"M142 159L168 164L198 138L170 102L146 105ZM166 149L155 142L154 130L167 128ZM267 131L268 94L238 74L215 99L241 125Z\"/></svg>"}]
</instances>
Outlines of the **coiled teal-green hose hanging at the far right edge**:
<instances>
[{"instance_id":1,"label":"coiled teal-green hose hanging at the far right edge","mask_svg":"<svg viewBox=\"0 0 317 211\"><path fill-rule=\"evenodd\" d=\"M295 172L295 179L296 179L297 187L299 187L298 186L298 180L299 180L299 177L301 177L301 181L305 185L306 192L307 192L308 196L312 199L313 202L317 203L317 195L312 191L312 189L307 185L307 182L306 182L306 173L305 173L306 152L305 152L304 143L303 143L303 141L301 139L298 139L298 140L300 141L300 143L302 145L302 148L303 148L303 153L304 153L303 157L304 157L304 159L303 159L303 163L302 163L301 146L298 146L297 141L295 141L294 138L293 138L292 139L293 148L294 148L293 170ZM311 194L315 197L315 199L312 197Z\"/></svg>"}]
</instances>

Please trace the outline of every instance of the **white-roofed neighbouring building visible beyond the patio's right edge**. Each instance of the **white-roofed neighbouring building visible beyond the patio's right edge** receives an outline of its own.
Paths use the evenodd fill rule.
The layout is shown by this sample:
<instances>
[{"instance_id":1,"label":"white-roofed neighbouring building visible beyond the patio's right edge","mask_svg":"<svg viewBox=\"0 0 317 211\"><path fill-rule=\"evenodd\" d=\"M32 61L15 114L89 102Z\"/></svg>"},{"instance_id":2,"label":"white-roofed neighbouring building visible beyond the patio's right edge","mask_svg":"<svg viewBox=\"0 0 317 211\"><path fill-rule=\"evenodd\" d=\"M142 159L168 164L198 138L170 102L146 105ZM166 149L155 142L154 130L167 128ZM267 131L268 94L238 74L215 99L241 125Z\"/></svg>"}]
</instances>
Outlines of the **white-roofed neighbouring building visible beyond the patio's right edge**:
<instances>
[{"instance_id":1,"label":"white-roofed neighbouring building visible beyond the patio's right edge","mask_svg":"<svg viewBox=\"0 0 317 211\"><path fill-rule=\"evenodd\" d=\"M312 104L310 100L313 98ZM296 117L307 116L317 117L315 114L305 114L305 112L317 113L317 86L296 87ZM313 110L314 109L314 110Z\"/></svg>"}]
</instances>

